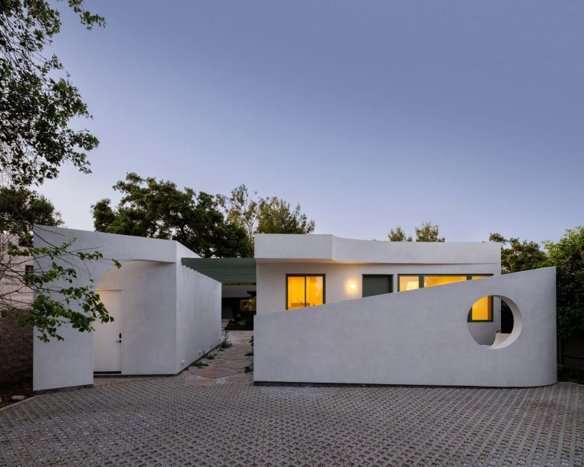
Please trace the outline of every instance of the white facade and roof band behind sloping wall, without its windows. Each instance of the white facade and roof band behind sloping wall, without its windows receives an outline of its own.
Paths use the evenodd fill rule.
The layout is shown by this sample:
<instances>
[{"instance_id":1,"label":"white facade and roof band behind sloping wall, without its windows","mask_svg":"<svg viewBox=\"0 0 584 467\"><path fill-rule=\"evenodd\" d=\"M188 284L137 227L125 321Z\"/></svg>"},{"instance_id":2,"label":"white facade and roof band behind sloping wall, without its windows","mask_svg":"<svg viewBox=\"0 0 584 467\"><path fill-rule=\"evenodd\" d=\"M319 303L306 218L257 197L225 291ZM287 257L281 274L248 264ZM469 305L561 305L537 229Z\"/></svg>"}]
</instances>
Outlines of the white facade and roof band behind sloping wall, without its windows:
<instances>
[{"instance_id":1,"label":"white facade and roof band behind sloping wall, without its windows","mask_svg":"<svg viewBox=\"0 0 584 467\"><path fill-rule=\"evenodd\" d=\"M326 303L362 297L364 274L500 275L500 244L493 242L376 242L331 235L256 235L257 314L286 309L287 274L324 274ZM350 288L354 283L356 288ZM470 307L469 307L470 308ZM469 323L481 344L501 329L500 301L493 321Z\"/></svg>"}]
</instances>

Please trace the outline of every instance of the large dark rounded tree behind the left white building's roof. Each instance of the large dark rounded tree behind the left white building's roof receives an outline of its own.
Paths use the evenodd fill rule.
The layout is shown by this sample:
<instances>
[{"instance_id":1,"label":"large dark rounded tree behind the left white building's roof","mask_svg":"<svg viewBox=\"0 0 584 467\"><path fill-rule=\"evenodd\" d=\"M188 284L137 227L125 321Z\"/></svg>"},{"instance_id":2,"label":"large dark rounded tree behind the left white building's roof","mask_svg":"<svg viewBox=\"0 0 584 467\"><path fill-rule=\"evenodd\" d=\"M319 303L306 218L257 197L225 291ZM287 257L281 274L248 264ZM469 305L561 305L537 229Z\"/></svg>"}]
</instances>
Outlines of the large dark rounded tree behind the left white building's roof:
<instances>
[{"instance_id":1,"label":"large dark rounded tree behind the left white building's roof","mask_svg":"<svg viewBox=\"0 0 584 467\"><path fill-rule=\"evenodd\" d=\"M211 194L179 190L171 181L128 173L114 190L124 194L113 209L109 199L92 206L97 231L177 240L204 257L250 256L243 228L226 222Z\"/></svg>"}]
</instances>

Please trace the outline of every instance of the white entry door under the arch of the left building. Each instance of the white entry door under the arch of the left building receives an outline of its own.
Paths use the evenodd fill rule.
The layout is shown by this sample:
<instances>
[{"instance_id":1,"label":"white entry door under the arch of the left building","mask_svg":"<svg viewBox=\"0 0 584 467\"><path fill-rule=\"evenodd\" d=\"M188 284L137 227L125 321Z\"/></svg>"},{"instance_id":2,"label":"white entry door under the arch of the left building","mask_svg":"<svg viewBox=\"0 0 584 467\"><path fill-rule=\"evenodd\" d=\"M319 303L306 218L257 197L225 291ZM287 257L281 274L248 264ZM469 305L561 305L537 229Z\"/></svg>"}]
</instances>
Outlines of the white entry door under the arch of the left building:
<instances>
[{"instance_id":1,"label":"white entry door under the arch of the left building","mask_svg":"<svg viewBox=\"0 0 584 467\"><path fill-rule=\"evenodd\" d=\"M101 303L114 318L113 322L98 323L93 327L93 371L121 372L122 301L121 290L96 290Z\"/></svg>"}]
</instances>

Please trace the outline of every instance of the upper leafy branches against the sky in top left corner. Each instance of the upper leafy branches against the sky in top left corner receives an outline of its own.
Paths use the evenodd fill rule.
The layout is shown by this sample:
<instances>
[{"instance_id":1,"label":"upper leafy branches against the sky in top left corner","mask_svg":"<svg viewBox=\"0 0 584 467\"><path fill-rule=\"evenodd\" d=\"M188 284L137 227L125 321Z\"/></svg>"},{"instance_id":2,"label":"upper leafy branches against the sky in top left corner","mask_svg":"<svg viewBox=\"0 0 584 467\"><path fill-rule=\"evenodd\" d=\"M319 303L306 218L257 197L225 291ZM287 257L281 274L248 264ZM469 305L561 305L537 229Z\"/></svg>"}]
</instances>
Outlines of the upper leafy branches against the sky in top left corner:
<instances>
[{"instance_id":1,"label":"upper leafy branches against the sky in top left corner","mask_svg":"<svg viewBox=\"0 0 584 467\"><path fill-rule=\"evenodd\" d=\"M83 0L67 4L87 29L105 25L84 10ZM88 173L86 152L98 144L86 129L69 127L90 114L69 75L60 76L56 55L42 55L60 27L48 1L0 1L0 172L10 186L54 179L64 162Z\"/></svg>"}]
</instances>

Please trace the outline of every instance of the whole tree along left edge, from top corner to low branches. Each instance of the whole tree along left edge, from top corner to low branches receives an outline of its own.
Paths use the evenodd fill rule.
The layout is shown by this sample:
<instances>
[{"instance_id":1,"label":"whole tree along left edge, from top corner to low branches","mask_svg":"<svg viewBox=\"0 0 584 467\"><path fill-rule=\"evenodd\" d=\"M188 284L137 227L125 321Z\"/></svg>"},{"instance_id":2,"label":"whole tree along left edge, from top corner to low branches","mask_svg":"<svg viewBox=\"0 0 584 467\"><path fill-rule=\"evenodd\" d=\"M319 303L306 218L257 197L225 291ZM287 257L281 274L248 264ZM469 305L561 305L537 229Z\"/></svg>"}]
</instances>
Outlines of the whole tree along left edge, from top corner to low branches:
<instances>
[{"instance_id":1,"label":"whole tree along left edge, from top corner to low branches","mask_svg":"<svg viewBox=\"0 0 584 467\"><path fill-rule=\"evenodd\" d=\"M105 25L83 0L66 3L87 29ZM90 172L87 152L98 144L86 129L71 128L71 121L90 114L56 55L43 55L60 27L60 14L48 1L0 0L1 222L9 232L0 234L0 310L16 314L20 325L36 326L45 341L60 338L62 324L90 331L96 319L111 319L93 289L75 286L73 264L101 260L100 253L71 251L71 243L32 247L32 224L61 221L29 186L57 178L65 163ZM42 258L51 266L23 274L26 262Z\"/></svg>"}]
</instances>

